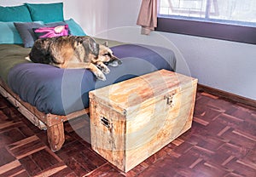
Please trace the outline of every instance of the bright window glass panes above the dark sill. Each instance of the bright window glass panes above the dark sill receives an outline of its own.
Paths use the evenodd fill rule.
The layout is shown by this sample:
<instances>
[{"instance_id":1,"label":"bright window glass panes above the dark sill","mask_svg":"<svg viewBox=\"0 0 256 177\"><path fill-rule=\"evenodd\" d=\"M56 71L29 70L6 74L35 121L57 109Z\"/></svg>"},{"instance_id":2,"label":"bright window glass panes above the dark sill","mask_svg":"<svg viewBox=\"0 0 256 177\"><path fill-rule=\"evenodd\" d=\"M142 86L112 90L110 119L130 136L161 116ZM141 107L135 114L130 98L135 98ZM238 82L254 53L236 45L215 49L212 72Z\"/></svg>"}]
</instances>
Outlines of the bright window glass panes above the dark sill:
<instances>
[{"instance_id":1,"label":"bright window glass panes above the dark sill","mask_svg":"<svg viewBox=\"0 0 256 177\"><path fill-rule=\"evenodd\" d=\"M256 26L256 0L159 0L158 16Z\"/></svg>"}]
</instances>

